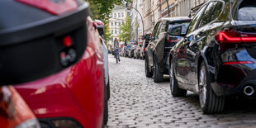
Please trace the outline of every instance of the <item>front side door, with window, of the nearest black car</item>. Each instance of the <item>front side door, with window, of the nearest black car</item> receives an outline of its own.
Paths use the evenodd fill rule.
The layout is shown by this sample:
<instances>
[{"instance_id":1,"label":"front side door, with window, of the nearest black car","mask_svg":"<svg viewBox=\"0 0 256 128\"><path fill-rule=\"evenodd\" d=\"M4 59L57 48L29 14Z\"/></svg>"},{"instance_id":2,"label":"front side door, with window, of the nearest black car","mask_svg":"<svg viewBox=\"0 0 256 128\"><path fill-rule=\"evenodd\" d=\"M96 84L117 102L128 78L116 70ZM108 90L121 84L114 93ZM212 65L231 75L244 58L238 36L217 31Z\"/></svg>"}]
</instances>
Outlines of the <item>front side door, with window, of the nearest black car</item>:
<instances>
[{"instance_id":1,"label":"front side door, with window, of the nearest black car","mask_svg":"<svg viewBox=\"0 0 256 128\"><path fill-rule=\"evenodd\" d=\"M187 45L192 41L193 31L197 29L197 24L200 21L201 15L205 11L206 6L201 7L201 10L197 12L196 16L191 21L187 29L187 36L175 45L176 53L174 60L174 67L176 67L176 78L178 80L179 86L187 90L192 90L191 83L188 82L187 74L189 66L187 65Z\"/></svg>"}]
</instances>

